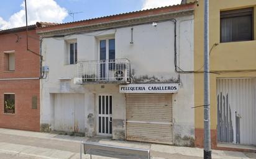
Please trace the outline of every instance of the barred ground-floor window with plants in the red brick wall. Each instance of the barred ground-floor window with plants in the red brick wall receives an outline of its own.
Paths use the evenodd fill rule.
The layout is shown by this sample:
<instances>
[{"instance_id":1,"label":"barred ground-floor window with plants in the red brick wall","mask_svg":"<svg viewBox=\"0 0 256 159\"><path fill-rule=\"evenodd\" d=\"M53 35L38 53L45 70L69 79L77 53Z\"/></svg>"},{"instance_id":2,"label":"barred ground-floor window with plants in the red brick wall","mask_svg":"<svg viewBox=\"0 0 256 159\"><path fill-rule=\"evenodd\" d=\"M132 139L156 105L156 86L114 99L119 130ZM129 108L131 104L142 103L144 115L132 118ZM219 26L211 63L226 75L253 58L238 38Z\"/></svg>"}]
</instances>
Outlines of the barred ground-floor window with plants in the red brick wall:
<instances>
[{"instance_id":1,"label":"barred ground-floor window with plants in the red brick wall","mask_svg":"<svg viewBox=\"0 0 256 159\"><path fill-rule=\"evenodd\" d=\"M6 114L15 113L15 94L14 93L4 94L4 113Z\"/></svg>"}]
</instances>

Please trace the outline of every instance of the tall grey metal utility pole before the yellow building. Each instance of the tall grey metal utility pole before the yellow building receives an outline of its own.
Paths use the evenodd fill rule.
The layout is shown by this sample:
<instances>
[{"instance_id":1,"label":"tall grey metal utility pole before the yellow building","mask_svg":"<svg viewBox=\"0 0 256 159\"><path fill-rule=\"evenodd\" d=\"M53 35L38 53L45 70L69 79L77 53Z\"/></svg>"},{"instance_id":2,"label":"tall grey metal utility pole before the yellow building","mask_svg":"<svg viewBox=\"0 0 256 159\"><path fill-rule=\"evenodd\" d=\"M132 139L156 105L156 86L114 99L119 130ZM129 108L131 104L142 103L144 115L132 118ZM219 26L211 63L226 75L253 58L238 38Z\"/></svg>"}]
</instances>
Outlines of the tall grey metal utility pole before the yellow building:
<instances>
[{"instance_id":1,"label":"tall grey metal utility pole before the yellow building","mask_svg":"<svg viewBox=\"0 0 256 159\"><path fill-rule=\"evenodd\" d=\"M209 0L204 0L204 159L211 159Z\"/></svg>"}]
</instances>

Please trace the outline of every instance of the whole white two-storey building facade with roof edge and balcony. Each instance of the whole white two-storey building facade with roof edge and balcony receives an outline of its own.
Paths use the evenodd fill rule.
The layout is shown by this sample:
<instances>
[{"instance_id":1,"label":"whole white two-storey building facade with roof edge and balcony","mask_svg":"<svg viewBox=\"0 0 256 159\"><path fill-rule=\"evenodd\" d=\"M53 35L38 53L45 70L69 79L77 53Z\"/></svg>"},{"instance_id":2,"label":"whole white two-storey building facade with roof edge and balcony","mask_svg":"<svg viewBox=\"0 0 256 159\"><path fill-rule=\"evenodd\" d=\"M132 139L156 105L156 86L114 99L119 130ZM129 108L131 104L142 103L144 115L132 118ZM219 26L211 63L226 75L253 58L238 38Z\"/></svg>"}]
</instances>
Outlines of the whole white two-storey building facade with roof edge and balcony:
<instances>
[{"instance_id":1,"label":"whole white two-storey building facade with roof edge and balcony","mask_svg":"<svg viewBox=\"0 0 256 159\"><path fill-rule=\"evenodd\" d=\"M39 28L41 131L193 145L193 4ZM176 34L176 37L175 37Z\"/></svg>"}]
</instances>

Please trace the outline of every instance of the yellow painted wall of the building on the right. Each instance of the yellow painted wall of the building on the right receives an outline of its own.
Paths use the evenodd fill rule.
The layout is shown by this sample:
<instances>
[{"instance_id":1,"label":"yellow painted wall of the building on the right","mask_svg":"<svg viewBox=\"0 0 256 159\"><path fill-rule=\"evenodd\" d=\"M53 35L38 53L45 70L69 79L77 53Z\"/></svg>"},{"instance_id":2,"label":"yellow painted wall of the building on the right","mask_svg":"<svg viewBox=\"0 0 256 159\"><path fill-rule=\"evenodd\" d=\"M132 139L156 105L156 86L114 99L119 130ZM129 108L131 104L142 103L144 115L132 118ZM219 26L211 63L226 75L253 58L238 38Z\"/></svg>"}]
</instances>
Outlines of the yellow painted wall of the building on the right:
<instances>
[{"instance_id":1,"label":"yellow painted wall of the building on the right","mask_svg":"<svg viewBox=\"0 0 256 159\"><path fill-rule=\"evenodd\" d=\"M189 0L193 1L193 0ZM203 0L199 0L194 15L194 70L203 66ZM254 39L256 39L256 0L209 0L209 47L217 43L210 55L211 71L256 70L256 40L220 43L220 11L254 7ZM203 68L200 70L203 71ZM256 77L256 72L211 74L211 129L217 127L216 79L221 77ZM194 74L195 106L203 105L203 74ZM203 128L203 107L195 108L195 128Z\"/></svg>"}]
</instances>

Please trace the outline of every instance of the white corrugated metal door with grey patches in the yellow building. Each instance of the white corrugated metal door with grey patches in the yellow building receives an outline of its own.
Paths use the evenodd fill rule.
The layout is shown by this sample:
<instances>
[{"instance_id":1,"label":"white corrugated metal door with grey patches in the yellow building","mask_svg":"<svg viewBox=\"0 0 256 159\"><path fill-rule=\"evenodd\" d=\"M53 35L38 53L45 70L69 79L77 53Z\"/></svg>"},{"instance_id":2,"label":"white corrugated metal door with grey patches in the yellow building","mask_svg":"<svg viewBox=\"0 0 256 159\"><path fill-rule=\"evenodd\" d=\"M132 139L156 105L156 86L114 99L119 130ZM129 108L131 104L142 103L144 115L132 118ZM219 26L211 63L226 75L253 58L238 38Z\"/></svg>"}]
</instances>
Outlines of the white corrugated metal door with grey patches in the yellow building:
<instances>
[{"instance_id":1,"label":"white corrugated metal door with grey patches in the yellow building","mask_svg":"<svg viewBox=\"0 0 256 159\"><path fill-rule=\"evenodd\" d=\"M256 145L256 79L217 79L217 140Z\"/></svg>"}]
</instances>

